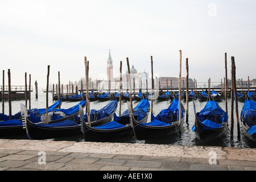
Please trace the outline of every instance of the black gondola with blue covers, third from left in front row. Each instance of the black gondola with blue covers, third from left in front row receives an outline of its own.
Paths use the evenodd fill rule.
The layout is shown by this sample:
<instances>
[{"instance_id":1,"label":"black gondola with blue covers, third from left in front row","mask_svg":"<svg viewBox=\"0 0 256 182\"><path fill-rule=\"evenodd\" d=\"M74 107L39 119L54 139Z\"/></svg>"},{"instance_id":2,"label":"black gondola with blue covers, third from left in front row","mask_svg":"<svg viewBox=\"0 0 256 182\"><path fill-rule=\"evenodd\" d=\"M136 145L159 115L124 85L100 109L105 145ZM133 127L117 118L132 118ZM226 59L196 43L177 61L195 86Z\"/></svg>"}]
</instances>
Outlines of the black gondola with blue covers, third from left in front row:
<instances>
[{"instance_id":1,"label":"black gondola with blue covers, third from left in front row","mask_svg":"<svg viewBox=\"0 0 256 182\"><path fill-rule=\"evenodd\" d=\"M143 97L139 104L134 108L134 115L136 115L138 122L147 122L149 107L150 103ZM113 121L101 126L92 127L84 122L83 131L84 139L88 142L104 142L110 139L124 137L133 131L130 125L129 111L124 111L119 117L114 114Z\"/></svg>"}]
</instances>

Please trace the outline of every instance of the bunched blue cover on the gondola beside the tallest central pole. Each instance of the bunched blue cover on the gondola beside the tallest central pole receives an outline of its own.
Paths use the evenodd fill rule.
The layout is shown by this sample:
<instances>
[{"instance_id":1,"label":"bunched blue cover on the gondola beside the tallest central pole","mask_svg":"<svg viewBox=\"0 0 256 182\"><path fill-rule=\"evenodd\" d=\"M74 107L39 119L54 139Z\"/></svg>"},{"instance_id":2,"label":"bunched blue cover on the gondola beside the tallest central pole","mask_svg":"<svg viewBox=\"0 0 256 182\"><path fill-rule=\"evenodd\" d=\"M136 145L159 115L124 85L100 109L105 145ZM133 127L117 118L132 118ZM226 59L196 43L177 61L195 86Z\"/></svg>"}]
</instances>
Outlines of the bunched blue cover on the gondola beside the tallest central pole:
<instances>
[{"instance_id":1,"label":"bunched blue cover on the gondola beside the tallest central pole","mask_svg":"<svg viewBox=\"0 0 256 182\"><path fill-rule=\"evenodd\" d=\"M167 109L161 110L160 113L155 117L154 115L152 115L152 120L157 119L158 121L171 123L172 113L176 114L175 121L178 121L179 120L179 99L178 98L175 98ZM183 112L183 109L181 109L181 118L183 118L183 115L184 115L184 112Z\"/></svg>"}]
</instances>

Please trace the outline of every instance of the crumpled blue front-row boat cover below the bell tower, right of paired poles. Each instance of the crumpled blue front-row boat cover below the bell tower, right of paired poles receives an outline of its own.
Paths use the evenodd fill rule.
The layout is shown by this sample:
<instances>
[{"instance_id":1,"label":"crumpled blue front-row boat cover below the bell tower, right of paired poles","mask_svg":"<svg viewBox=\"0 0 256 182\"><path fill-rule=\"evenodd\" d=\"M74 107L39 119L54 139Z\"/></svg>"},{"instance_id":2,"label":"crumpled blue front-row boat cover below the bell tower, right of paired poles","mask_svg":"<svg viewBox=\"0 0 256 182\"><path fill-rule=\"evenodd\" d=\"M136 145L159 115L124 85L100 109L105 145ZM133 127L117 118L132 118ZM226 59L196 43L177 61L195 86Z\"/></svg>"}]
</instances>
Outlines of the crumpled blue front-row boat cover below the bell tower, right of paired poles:
<instances>
[{"instance_id":1,"label":"crumpled blue front-row boat cover below the bell tower, right of paired poles","mask_svg":"<svg viewBox=\"0 0 256 182\"><path fill-rule=\"evenodd\" d=\"M112 101L109 102L108 105L106 105L102 109L99 109L99 110L92 109L92 110L90 110L91 121L96 121L96 120L100 120L100 119L103 119L105 117L108 117L110 114L113 113L116 106L117 106L117 100L112 100ZM88 118L87 118L86 114L84 115L84 117L85 117L85 121L88 121Z\"/></svg>"}]
</instances>

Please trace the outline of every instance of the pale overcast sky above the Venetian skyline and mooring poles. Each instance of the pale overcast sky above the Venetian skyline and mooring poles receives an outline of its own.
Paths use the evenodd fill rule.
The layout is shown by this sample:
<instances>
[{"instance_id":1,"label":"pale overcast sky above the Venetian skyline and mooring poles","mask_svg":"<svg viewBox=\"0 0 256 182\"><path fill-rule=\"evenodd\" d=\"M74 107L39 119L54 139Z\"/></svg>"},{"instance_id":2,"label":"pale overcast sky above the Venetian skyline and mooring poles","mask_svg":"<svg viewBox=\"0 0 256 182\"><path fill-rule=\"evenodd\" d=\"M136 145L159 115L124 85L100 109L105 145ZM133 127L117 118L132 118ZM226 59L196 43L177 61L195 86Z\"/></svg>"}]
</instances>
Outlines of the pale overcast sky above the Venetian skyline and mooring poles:
<instances>
[{"instance_id":1,"label":"pale overcast sky above the Venetian skyline and mooring poles","mask_svg":"<svg viewBox=\"0 0 256 182\"><path fill-rule=\"evenodd\" d=\"M188 57L189 78L197 82L221 81L225 76L224 54L236 61L237 78L255 78L256 1L171 1L171 0L0 0L1 68L11 71L11 84L24 85L31 74L46 88L89 76L106 78L109 49L114 75L126 72L126 57L138 72L159 77L179 77ZM2 73L0 74L2 80ZM2 84L0 84L2 85Z\"/></svg>"}]
</instances>

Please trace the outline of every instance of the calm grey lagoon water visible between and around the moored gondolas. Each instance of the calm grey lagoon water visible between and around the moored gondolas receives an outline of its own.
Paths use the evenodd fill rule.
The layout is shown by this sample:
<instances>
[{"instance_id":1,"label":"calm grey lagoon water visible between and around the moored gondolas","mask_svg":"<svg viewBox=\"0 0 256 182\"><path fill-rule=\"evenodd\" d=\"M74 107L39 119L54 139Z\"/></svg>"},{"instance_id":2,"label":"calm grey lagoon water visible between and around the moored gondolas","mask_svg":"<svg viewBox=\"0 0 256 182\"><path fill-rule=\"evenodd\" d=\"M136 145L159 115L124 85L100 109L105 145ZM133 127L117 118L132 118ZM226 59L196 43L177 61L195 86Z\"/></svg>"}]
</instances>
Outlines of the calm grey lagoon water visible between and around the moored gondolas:
<instances>
[{"instance_id":1,"label":"calm grey lagoon water visible between and around the moored gondolas","mask_svg":"<svg viewBox=\"0 0 256 182\"><path fill-rule=\"evenodd\" d=\"M49 93L49 105L53 104L55 101L52 101L52 94ZM109 101L93 101L90 102L90 109L101 109L105 105L108 104ZM20 103L25 104L24 100L21 101L12 101L12 113L15 114L20 111ZM61 108L69 108L73 105L76 105L78 102L63 102ZM229 123L230 123L230 100L228 100L228 115L229 115ZM134 101L133 105L137 105L138 102ZM151 104L151 101L150 101ZM158 114L160 110L166 109L171 104L171 101L154 101L153 110L155 114ZM182 101L184 107L186 107L186 103ZM200 111L205 106L205 102L200 102L199 100L195 101L196 111ZM218 102L218 104L225 110L225 100ZM31 93L31 108L45 108L46 107L46 93L39 90L38 99L35 98L35 92ZM243 107L243 102L238 102L238 112L241 113L241 109ZM119 108L119 105L118 105ZM2 111L2 104L0 106ZM122 101L122 112L127 109L127 102ZM234 107L235 110L235 107ZM8 102L5 102L5 114L9 115L9 105ZM201 143L199 139L196 138L195 133L192 132L192 126L195 123L195 114L193 109L193 102L189 101L188 104L188 122L184 121L182 134L179 135L174 134L167 138L154 139L154 140L137 140L133 135L128 135L125 138L115 139L108 142L122 142L122 143L151 143L151 144L174 144L174 145L189 145L189 146L220 146L220 147L243 147L243 148L255 148L256 143L251 142L247 139L241 132L241 137L237 136L237 122L236 122L236 113L234 111L234 133L233 136L230 135L230 131L224 136L222 136L219 140L208 143ZM240 114L239 114L240 115ZM149 121L150 117L148 117ZM229 126L230 130L230 126ZM15 139L27 139L26 136L19 137ZM84 141L81 136L76 136L72 138L61 138L54 140L72 140L72 141Z\"/></svg>"}]
</instances>

